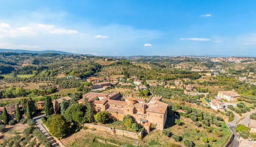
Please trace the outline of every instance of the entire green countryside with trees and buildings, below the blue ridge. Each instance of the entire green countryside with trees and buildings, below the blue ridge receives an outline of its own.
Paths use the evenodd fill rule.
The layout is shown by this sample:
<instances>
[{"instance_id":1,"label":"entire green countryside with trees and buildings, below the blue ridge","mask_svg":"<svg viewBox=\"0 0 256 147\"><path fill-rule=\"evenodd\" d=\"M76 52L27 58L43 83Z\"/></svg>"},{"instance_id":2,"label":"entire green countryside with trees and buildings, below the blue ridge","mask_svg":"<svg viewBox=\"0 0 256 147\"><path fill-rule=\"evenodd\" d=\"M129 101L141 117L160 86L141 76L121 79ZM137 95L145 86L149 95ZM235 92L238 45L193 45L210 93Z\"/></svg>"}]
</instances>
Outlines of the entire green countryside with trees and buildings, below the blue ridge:
<instances>
[{"instance_id":1,"label":"entire green countryside with trees and buildings, below the blue ridge","mask_svg":"<svg viewBox=\"0 0 256 147\"><path fill-rule=\"evenodd\" d=\"M2 52L0 60L1 146L256 142L255 58Z\"/></svg>"}]
</instances>

